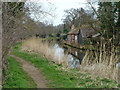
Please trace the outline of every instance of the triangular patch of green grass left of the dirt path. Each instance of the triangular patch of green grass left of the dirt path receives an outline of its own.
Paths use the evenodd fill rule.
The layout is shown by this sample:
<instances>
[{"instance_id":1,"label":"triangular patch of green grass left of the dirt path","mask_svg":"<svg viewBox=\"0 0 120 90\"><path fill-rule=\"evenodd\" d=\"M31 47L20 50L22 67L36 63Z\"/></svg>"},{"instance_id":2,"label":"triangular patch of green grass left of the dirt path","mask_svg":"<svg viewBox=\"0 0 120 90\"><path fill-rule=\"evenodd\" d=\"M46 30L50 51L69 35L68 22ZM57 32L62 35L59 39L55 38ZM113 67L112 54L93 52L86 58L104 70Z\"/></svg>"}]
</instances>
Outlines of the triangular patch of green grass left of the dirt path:
<instances>
[{"instance_id":1,"label":"triangular patch of green grass left of the dirt path","mask_svg":"<svg viewBox=\"0 0 120 90\"><path fill-rule=\"evenodd\" d=\"M19 62L16 61L15 58L9 56L9 72L5 75L5 83L4 88L36 88L37 85L34 81L25 73L22 69L22 66Z\"/></svg>"}]
</instances>

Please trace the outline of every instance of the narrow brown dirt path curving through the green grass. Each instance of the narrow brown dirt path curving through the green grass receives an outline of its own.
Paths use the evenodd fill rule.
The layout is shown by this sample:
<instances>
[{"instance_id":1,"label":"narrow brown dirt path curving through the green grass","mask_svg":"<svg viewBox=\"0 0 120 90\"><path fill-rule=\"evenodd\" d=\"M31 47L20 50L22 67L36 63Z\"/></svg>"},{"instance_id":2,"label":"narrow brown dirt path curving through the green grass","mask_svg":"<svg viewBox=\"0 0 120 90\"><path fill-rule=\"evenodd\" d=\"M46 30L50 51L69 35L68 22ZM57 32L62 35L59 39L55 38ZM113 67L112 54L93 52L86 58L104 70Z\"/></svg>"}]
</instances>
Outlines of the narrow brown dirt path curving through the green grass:
<instances>
[{"instance_id":1,"label":"narrow brown dirt path curving through the green grass","mask_svg":"<svg viewBox=\"0 0 120 90\"><path fill-rule=\"evenodd\" d=\"M28 75L34 80L37 84L38 88L47 88L45 77L41 74L40 70L36 68L32 63L21 59L15 55L11 55L12 57L16 58L18 62L22 63L22 68Z\"/></svg>"}]
</instances>

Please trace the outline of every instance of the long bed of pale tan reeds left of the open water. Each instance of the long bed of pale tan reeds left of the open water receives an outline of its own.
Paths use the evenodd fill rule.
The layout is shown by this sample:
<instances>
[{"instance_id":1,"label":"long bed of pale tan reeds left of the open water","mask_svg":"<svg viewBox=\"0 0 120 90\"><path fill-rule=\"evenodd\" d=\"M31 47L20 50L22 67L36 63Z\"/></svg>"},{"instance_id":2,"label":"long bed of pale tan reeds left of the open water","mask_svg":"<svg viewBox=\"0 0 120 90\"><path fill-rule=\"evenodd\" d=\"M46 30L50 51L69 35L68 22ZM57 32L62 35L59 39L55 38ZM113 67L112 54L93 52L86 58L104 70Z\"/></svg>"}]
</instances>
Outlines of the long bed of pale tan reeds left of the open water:
<instances>
[{"instance_id":1,"label":"long bed of pale tan reeds left of the open water","mask_svg":"<svg viewBox=\"0 0 120 90\"><path fill-rule=\"evenodd\" d=\"M64 54L64 50L58 45L51 45L47 41L42 41L40 38L30 38L22 45L22 50L38 53L46 58L53 60L55 63L62 64L64 67L69 67L68 55Z\"/></svg>"}]
</instances>

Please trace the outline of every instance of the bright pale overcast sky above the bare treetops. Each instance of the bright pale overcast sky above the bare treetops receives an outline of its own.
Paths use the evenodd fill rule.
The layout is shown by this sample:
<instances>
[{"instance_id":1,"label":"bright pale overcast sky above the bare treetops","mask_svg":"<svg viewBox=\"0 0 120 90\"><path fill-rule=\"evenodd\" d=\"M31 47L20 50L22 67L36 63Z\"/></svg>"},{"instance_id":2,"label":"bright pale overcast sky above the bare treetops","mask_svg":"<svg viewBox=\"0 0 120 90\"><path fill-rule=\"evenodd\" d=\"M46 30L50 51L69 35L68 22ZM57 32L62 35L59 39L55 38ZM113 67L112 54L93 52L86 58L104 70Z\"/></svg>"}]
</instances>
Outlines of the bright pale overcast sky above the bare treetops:
<instances>
[{"instance_id":1,"label":"bright pale overcast sky above the bare treetops","mask_svg":"<svg viewBox=\"0 0 120 90\"><path fill-rule=\"evenodd\" d=\"M53 5L50 5L48 3L52 3ZM39 0L35 1L40 5L39 3L42 2L42 6L44 10L48 10L50 7L56 8L52 14L54 14L54 17L43 17L40 21L47 21L48 23L51 23L53 25L59 25L62 24L62 20L64 18L64 10L71 9L71 8L84 8L87 9L86 3L87 0ZM40 15L39 15L40 16ZM32 14L32 17L34 18L34 14Z\"/></svg>"}]
</instances>

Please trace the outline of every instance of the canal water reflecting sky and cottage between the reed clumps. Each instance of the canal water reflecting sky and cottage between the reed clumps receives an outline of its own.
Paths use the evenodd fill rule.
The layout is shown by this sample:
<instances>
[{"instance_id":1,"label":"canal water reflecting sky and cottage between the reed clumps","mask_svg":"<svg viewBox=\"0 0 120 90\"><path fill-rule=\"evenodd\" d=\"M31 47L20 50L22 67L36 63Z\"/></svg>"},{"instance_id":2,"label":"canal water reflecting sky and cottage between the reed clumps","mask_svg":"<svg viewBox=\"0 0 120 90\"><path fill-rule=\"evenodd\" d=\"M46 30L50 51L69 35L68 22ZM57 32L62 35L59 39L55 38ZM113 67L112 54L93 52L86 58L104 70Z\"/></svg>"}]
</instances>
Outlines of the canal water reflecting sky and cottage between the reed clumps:
<instances>
[{"instance_id":1,"label":"canal water reflecting sky and cottage between the reed clumps","mask_svg":"<svg viewBox=\"0 0 120 90\"><path fill-rule=\"evenodd\" d=\"M55 48L55 57L58 58L59 63L62 57L67 54L69 61L68 64L71 68L77 68L80 66L82 59L84 57L83 51L80 51L78 49L69 47L69 46L64 46L63 48L60 47L58 44L54 45Z\"/></svg>"}]
</instances>

